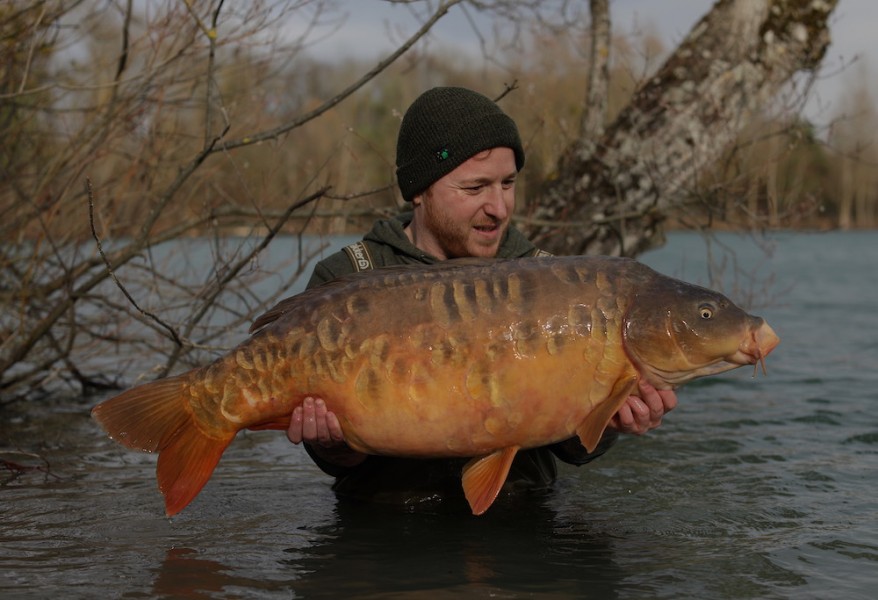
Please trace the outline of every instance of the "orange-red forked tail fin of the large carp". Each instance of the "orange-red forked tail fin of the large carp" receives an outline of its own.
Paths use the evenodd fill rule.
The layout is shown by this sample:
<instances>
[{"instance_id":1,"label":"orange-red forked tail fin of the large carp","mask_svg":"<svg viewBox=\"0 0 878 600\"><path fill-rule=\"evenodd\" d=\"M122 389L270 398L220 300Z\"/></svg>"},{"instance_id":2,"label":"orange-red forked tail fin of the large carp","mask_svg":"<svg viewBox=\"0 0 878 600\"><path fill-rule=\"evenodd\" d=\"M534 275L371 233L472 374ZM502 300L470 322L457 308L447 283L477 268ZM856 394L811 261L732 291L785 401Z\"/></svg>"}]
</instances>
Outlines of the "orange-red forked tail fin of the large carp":
<instances>
[{"instance_id":1,"label":"orange-red forked tail fin of the large carp","mask_svg":"<svg viewBox=\"0 0 878 600\"><path fill-rule=\"evenodd\" d=\"M156 475L169 517L198 495L235 437L211 437L198 427L184 395L187 381L184 373L147 383L91 411L113 440L159 453Z\"/></svg>"}]
</instances>

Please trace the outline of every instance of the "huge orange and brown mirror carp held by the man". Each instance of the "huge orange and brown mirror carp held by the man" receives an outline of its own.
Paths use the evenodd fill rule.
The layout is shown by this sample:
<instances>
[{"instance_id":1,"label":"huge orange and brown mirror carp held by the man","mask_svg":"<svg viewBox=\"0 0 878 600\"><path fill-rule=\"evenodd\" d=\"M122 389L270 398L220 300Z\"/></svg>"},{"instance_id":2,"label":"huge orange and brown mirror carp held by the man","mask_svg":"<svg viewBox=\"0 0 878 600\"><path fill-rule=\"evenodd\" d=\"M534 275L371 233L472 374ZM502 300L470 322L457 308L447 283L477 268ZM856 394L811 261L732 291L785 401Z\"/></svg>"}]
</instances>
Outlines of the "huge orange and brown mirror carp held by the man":
<instances>
[{"instance_id":1,"label":"huge orange and brown mirror carp held by the man","mask_svg":"<svg viewBox=\"0 0 878 600\"><path fill-rule=\"evenodd\" d=\"M577 435L593 450L639 379L675 388L779 342L721 294L581 256L378 269L283 300L253 331L92 411L114 440L159 452L169 516L238 431L286 429L305 396L326 401L360 452L474 457L462 481L481 514L519 449Z\"/></svg>"}]
</instances>

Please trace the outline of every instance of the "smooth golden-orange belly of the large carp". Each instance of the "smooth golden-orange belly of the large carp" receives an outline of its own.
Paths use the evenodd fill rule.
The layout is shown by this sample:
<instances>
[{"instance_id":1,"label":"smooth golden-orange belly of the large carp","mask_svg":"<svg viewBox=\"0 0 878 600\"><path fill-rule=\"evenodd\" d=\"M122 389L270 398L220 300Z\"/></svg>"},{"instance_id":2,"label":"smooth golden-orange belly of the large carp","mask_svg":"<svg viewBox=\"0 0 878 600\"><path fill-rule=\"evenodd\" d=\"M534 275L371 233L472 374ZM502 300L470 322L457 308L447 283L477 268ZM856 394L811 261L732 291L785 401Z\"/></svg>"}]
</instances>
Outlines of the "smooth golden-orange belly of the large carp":
<instances>
[{"instance_id":1,"label":"smooth golden-orange belly of the large carp","mask_svg":"<svg viewBox=\"0 0 878 600\"><path fill-rule=\"evenodd\" d=\"M584 346L569 348L571 360L514 352L489 359L461 350L460 364L437 365L400 356L397 369L364 368L353 390L339 390L339 402L329 392L327 402L348 443L363 452L479 456L543 446L574 435L624 371L610 374L605 361L583 361Z\"/></svg>"}]
</instances>

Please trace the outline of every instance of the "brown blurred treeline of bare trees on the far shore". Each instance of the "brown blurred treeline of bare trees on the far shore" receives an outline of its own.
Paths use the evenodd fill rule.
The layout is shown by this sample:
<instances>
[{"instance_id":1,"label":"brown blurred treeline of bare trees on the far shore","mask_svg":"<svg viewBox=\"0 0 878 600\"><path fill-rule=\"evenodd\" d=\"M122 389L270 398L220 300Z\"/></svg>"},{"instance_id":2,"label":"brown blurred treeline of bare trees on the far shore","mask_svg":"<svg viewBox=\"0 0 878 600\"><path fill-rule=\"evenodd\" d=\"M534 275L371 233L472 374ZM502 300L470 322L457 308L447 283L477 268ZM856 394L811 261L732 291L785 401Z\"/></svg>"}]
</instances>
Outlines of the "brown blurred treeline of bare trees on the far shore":
<instances>
[{"instance_id":1,"label":"brown blurred treeline of bare trees on the far shore","mask_svg":"<svg viewBox=\"0 0 878 600\"><path fill-rule=\"evenodd\" d=\"M209 41L193 37L191 30L155 24L150 24L152 54L144 57L132 48L123 65L119 23L111 17L83 21L83 37L75 44L82 54L74 63L77 72L57 68L66 51L63 39L47 35L34 47L26 23L9 21L21 27L21 43L12 43L17 34L9 29L12 42L0 46L7 65L0 71L5 182L0 230L6 240L38 239L55 227L64 237L89 237L82 193L86 176L97 190L104 233L132 235L155 210L155 195L206 145L246 139L268 123L295 121L371 66L353 59L316 62L304 52L291 60L281 48L266 52L251 39L254 28L227 41L216 53L212 80L206 80L203 56ZM315 231L362 230L376 214L402 205L394 189L399 121L408 104L435 85L468 86L489 95L514 88L501 102L519 123L527 148L520 193L533 196L551 180L578 133L583 35L533 32L527 47L539 51L512 48L502 67L453 51L413 52L294 131L201 165L198 176L181 186L182 193L175 192L174 210L157 225L182 217L194 224L189 234L217 224L252 227L254 219L284 211L295 199L328 186L321 201L298 211L288 227L298 230L307 221ZM608 118L663 54L654 36L615 40ZM848 98L822 123L803 120L795 110L802 99L793 94L781 108L766 107L724 160L692 181L690 201L679 214L667 215L667 224L876 226L875 103L865 87L852 89Z\"/></svg>"}]
</instances>

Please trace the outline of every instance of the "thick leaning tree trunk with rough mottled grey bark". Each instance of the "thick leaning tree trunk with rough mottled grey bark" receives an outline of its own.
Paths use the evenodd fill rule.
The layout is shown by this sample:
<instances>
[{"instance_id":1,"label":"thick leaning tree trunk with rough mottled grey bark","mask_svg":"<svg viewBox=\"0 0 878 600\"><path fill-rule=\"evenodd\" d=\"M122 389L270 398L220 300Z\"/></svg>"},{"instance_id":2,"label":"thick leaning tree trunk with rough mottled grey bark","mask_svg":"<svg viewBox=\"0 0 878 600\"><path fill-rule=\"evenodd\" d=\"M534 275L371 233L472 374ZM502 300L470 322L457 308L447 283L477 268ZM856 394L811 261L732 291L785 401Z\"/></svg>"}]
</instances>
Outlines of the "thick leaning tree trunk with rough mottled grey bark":
<instances>
[{"instance_id":1,"label":"thick leaning tree trunk with rough mottled grey bark","mask_svg":"<svg viewBox=\"0 0 878 600\"><path fill-rule=\"evenodd\" d=\"M527 233L558 254L634 256L656 245L668 208L749 117L819 66L837 3L717 2L596 144L570 148L558 178L531 198L540 224Z\"/></svg>"}]
</instances>

